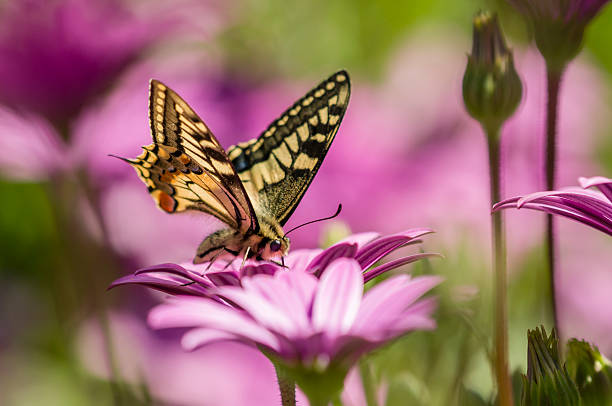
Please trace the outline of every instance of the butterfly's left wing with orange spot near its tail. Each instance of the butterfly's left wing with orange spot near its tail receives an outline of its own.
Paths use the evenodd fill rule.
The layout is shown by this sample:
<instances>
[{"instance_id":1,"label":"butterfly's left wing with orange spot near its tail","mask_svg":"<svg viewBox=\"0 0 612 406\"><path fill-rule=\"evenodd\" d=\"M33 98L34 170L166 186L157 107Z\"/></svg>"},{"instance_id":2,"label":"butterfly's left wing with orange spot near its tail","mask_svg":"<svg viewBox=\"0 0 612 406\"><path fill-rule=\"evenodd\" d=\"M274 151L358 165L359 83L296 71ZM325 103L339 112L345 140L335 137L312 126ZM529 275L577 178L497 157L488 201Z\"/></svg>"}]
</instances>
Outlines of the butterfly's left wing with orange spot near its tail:
<instances>
[{"instance_id":1,"label":"butterfly's left wing with orange spot near its tail","mask_svg":"<svg viewBox=\"0 0 612 406\"><path fill-rule=\"evenodd\" d=\"M227 154L206 124L174 91L151 80L153 144L128 159L157 205L168 213L200 210L246 233L259 227Z\"/></svg>"}]
</instances>

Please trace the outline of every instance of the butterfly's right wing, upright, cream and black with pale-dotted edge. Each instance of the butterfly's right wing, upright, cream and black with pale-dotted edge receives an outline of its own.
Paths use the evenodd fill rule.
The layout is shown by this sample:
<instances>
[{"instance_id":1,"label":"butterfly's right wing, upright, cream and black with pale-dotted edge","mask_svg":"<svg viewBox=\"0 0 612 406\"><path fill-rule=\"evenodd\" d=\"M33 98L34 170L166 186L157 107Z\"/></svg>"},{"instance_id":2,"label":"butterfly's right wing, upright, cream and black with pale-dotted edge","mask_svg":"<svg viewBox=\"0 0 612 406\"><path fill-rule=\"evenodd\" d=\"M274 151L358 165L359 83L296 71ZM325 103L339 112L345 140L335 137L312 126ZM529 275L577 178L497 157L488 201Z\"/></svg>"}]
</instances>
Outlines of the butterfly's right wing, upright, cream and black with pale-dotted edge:
<instances>
[{"instance_id":1,"label":"butterfly's right wing, upright, cream and black with pale-dotted edge","mask_svg":"<svg viewBox=\"0 0 612 406\"><path fill-rule=\"evenodd\" d=\"M289 107L258 137L228 149L250 195L283 225L327 154L348 106L350 80L334 73Z\"/></svg>"}]
</instances>

